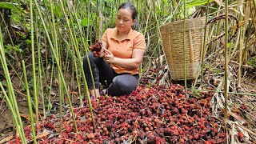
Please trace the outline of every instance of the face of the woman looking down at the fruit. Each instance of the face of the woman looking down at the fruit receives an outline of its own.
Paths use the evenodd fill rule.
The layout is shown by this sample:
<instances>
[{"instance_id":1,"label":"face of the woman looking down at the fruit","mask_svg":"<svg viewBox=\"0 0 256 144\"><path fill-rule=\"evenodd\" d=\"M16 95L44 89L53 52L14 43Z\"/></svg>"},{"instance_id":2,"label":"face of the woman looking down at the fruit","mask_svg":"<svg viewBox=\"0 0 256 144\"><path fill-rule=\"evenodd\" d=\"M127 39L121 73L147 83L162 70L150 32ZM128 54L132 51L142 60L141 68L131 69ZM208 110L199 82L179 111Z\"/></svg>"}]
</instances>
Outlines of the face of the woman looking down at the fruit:
<instances>
[{"instance_id":1,"label":"face of the woman looking down at the fruit","mask_svg":"<svg viewBox=\"0 0 256 144\"><path fill-rule=\"evenodd\" d=\"M115 23L118 31L122 33L128 32L130 30L130 27L134 26L134 22L135 20L132 18L132 12L128 8L118 10L118 15Z\"/></svg>"}]
</instances>

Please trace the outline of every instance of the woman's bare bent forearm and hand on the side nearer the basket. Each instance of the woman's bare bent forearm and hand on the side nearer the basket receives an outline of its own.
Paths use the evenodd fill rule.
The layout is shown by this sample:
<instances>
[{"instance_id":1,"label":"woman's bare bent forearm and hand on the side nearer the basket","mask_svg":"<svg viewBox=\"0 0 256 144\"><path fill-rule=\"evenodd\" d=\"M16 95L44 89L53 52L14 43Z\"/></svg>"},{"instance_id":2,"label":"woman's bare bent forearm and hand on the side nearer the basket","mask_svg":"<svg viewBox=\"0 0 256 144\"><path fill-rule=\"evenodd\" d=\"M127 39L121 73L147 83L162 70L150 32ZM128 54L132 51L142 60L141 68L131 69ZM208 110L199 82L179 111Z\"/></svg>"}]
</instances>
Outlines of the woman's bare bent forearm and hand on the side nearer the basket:
<instances>
[{"instance_id":1,"label":"woman's bare bent forearm and hand on the side nearer the basket","mask_svg":"<svg viewBox=\"0 0 256 144\"><path fill-rule=\"evenodd\" d=\"M132 58L116 58L110 52L110 50L105 49L104 59L106 62L121 66L126 69L135 69L140 66L143 59L144 51L142 50L133 50Z\"/></svg>"}]
</instances>

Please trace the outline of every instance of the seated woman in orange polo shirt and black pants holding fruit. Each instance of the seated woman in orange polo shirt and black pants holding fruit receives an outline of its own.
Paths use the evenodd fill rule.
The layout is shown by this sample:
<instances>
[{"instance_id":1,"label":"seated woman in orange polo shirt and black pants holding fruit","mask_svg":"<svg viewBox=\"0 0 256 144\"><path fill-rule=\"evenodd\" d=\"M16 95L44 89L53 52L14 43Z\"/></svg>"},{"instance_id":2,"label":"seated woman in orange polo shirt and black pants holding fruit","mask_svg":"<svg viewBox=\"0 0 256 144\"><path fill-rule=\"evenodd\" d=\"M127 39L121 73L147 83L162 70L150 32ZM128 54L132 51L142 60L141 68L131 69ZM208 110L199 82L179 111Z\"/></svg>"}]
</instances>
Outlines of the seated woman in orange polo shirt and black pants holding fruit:
<instances>
[{"instance_id":1,"label":"seated woman in orange polo shirt and black pants holding fruit","mask_svg":"<svg viewBox=\"0 0 256 144\"><path fill-rule=\"evenodd\" d=\"M143 34L132 29L137 14L130 2L119 6L116 27L107 29L103 34L103 48L98 57L91 52L88 54L96 93L87 58L84 57L83 69L92 98L100 95L99 82L108 87L111 96L130 94L138 86L138 69L146 50L146 42Z\"/></svg>"}]
</instances>

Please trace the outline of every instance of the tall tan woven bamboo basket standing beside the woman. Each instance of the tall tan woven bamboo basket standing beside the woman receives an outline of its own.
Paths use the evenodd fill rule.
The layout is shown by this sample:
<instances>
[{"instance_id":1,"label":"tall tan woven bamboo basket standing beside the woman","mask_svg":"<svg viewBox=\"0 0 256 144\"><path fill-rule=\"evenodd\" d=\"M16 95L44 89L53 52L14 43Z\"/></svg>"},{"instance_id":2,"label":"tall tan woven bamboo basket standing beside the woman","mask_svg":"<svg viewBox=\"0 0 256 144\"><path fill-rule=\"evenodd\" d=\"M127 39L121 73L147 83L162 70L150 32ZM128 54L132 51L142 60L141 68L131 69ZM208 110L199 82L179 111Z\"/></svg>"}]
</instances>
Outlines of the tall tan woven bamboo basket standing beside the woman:
<instances>
[{"instance_id":1,"label":"tall tan woven bamboo basket standing beside the woman","mask_svg":"<svg viewBox=\"0 0 256 144\"><path fill-rule=\"evenodd\" d=\"M199 70L204 28L206 26L205 21L205 17L186 20L187 79L195 79ZM161 26L162 48L173 80L184 79L183 30L183 20Z\"/></svg>"}]
</instances>

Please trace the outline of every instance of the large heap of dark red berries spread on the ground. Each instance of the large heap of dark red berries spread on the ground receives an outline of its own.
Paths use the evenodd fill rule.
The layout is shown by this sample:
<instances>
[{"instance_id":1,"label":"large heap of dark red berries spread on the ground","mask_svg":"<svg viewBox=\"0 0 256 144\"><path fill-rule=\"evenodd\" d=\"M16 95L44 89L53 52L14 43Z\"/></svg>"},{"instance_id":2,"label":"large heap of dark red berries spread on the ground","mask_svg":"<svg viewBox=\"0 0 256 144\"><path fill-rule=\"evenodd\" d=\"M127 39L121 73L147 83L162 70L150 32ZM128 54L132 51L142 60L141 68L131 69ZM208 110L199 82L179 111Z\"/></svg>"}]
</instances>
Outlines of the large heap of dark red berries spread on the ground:
<instances>
[{"instance_id":1,"label":"large heap of dark red berries spread on the ground","mask_svg":"<svg viewBox=\"0 0 256 144\"><path fill-rule=\"evenodd\" d=\"M210 115L214 93L200 94L202 98L193 98L182 86L172 85L138 86L128 96L102 96L92 102L95 128L85 101L85 107L74 108L78 134L69 112L59 137L59 118L52 115L40 128L50 130L51 137L39 138L38 143L226 143L226 133L219 132L218 120ZM30 127L25 130L31 138Z\"/></svg>"}]
</instances>

